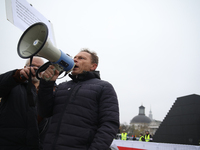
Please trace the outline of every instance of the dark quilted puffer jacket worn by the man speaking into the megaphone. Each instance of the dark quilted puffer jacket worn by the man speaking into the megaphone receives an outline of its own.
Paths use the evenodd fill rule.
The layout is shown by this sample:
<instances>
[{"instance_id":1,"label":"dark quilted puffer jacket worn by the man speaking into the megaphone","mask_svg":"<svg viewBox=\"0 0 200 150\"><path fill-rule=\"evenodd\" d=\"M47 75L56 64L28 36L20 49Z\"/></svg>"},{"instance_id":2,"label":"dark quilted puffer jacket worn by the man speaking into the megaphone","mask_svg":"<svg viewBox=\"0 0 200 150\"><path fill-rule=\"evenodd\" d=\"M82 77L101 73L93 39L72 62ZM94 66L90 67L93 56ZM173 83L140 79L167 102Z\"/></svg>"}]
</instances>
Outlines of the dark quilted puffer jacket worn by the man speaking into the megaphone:
<instances>
[{"instance_id":1,"label":"dark quilted puffer jacket worn by the man speaking into the megaphone","mask_svg":"<svg viewBox=\"0 0 200 150\"><path fill-rule=\"evenodd\" d=\"M45 150L107 150L119 129L119 109L112 85L87 72L60 84L40 82L39 111L53 115Z\"/></svg>"}]
</instances>

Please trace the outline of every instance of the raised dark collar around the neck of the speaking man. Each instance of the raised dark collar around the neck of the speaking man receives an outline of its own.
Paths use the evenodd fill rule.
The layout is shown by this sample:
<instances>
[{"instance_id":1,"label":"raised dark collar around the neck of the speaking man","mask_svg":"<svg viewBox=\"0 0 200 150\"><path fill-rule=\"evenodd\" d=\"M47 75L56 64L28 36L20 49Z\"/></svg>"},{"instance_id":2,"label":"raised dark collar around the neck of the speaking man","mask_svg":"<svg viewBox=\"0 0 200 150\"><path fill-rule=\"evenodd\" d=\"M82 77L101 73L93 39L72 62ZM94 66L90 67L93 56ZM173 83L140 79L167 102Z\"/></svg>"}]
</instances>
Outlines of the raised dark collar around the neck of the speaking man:
<instances>
[{"instance_id":1,"label":"raised dark collar around the neck of the speaking man","mask_svg":"<svg viewBox=\"0 0 200 150\"><path fill-rule=\"evenodd\" d=\"M93 78L101 79L99 71L87 71L87 72L84 71L82 74L78 74L78 75L69 74L69 77L72 78L74 82L86 81Z\"/></svg>"}]
</instances>

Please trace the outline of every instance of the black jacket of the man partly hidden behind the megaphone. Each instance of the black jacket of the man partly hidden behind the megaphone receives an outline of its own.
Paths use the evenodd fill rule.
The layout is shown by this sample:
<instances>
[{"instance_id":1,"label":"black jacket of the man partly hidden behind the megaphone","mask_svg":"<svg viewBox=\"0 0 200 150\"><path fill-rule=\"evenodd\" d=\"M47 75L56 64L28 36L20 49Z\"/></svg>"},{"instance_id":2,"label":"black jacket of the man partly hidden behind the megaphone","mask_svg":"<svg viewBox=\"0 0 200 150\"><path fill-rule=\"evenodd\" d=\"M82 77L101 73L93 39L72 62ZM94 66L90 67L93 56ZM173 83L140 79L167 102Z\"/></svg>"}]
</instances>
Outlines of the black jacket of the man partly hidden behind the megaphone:
<instances>
[{"instance_id":1,"label":"black jacket of the man partly hidden behind the megaphone","mask_svg":"<svg viewBox=\"0 0 200 150\"><path fill-rule=\"evenodd\" d=\"M27 84L19 84L13 74L16 70L0 75L0 149L39 149L36 108L27 100ZM36 88L32 84L36 97Z\"/></svg>"}]
</instances>

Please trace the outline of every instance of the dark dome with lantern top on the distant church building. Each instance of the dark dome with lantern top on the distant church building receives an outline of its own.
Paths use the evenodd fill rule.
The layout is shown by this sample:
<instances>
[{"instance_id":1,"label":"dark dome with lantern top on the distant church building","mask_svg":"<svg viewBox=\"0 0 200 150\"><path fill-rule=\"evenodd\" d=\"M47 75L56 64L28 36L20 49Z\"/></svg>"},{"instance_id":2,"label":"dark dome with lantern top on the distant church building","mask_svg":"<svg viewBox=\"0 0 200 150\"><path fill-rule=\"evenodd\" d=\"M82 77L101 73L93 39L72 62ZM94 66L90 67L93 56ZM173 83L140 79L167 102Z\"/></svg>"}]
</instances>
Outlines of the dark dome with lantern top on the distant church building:
<instances>
[{"instance_id":1,"label":"dark dome with lantern top on the distant church building","mask_svg":"<svg viewBox=\"0 0 200 150\"><path fill-rule=\"evenodd\" d=\"M139 107L139 115L135 116L132 120L131 120L131 124L133 123L150 123L151 119L147 116L145 116L145 107L144 106L140 106Z\"/></svg>"}]
</instances>

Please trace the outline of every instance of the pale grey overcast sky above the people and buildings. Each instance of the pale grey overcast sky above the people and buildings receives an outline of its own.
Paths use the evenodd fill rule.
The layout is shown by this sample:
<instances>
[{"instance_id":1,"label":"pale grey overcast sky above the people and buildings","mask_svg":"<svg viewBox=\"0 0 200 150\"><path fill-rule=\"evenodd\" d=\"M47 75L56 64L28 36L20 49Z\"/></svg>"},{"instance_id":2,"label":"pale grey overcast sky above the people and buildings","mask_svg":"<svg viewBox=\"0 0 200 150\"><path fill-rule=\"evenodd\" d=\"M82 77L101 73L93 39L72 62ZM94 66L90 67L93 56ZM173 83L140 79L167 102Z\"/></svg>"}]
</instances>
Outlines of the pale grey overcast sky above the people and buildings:
<instances>
[{"instance_id":1,"label":"pale grey overcast sky above the people and buildings","mask_svg":"<svg viewBox=\"0 0 200 150\"><path fill-rule=\"evenodd\" d=\"M102 80L115 88L120 122L139 106L162 121L177 97L200 95L199 0L27 0L50 20L57 48L72 56L96 51ZM22 31L6 19L0 1L0 73L22 68ZM69 77L57 80L57 83Z\"/></svg>"}]
</instances>

